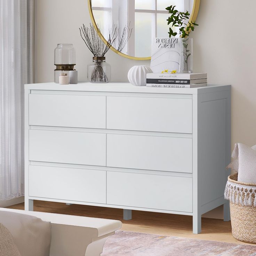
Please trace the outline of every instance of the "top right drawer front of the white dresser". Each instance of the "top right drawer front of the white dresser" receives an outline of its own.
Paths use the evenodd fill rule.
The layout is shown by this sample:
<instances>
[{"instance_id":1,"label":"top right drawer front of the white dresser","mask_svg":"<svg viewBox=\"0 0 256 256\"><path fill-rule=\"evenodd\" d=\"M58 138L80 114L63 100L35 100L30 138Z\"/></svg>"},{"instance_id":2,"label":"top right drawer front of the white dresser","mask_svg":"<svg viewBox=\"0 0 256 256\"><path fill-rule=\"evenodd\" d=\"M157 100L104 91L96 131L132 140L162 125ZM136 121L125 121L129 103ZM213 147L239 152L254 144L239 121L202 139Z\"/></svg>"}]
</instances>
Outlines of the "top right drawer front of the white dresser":
<instances>
[{"instance_id":1,"label":"top right drawer front of the white dresser","mask_svg":"<svg viewBox=\"0 0 256 256\"><path fill-rule=\"evenodd\" d=\"M192 99L107 96L107 129L192 133Z\"/></svg>"}]
</instances>

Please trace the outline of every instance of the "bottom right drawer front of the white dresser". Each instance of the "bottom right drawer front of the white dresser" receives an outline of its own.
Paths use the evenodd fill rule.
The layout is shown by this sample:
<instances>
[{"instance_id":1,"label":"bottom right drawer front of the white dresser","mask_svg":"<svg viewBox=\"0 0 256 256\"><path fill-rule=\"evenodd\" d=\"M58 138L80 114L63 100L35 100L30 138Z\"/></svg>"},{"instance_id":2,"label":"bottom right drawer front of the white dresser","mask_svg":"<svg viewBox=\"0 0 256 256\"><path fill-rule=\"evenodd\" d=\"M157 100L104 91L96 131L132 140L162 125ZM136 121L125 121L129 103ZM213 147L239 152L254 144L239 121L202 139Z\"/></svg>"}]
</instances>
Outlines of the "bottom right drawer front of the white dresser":
<instances>
[{"instance_id":1,"label":"bottom right drawer front of the white dresser","mask_svg":"<svg viewBox=\"0 0 256 256\"><path fill-rule=\"evenodd\" d=\"M107 204L192 212L192 178L107 171Z\"/></svg>"}]
</instances>

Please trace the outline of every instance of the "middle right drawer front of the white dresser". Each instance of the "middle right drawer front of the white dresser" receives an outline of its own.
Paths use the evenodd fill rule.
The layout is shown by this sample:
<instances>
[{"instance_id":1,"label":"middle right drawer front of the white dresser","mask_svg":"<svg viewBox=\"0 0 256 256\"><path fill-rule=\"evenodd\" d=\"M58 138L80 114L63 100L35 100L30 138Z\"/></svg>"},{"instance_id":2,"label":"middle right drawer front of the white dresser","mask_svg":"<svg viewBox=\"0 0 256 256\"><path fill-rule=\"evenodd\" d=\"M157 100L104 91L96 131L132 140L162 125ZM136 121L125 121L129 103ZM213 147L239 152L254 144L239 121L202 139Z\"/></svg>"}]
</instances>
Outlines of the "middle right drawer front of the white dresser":
<instances>
[{"instance_id":1,"label":"middle right drawer front of the white dresser","mask_svg":"<svg viewBox=\"0 0 256 256\"><path fill-rule=\"evenodd\" d=\"M107 134L107 166L192 173L192 138Z\"/></svg>"}]
</instances>

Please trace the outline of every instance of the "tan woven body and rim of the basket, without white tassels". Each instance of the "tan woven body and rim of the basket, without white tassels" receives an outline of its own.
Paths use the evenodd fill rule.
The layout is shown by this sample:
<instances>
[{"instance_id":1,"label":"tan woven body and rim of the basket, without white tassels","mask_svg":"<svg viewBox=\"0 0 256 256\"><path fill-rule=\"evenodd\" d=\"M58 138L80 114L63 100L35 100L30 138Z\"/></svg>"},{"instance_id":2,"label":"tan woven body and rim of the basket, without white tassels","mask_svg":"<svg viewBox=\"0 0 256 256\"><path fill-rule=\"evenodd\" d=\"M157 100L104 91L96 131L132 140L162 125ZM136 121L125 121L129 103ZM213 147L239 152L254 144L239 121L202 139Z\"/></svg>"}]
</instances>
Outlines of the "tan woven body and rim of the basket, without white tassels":
<instances>
[{"instance_id":1,"label":"tan woven body and rim of the basket, without white tassels","mask_svg":"<svg viewBox=\"0 0 256 256\"><path fill-rule=\"evenodd\" d=\"M252 186L256 190L256 184L238 182L237 176L237 173L230 175L229 182L234 185ZM245 195L243 196L245 197ZM230 216L233 237L243 242L256 243L256 207L243 206L230 201Z\"/></svg>"}]
</instances>

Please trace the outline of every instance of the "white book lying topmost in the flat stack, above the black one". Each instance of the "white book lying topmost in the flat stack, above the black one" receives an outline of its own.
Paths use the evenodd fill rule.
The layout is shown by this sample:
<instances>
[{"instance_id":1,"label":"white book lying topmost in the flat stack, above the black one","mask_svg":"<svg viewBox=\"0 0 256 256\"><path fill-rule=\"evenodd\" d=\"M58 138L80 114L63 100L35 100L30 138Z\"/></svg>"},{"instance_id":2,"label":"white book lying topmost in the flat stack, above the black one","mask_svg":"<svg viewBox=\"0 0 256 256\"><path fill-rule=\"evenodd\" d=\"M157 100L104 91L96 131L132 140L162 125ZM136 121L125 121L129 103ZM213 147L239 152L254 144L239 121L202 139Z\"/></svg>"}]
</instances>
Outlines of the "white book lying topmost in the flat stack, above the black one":
<instances>
[{"instance_id":1,"label":"white book lying topmost in the flat stack, above the black one","mask_svg":"<svg viewBox=\"0 0 256 256\"><path fill-rule=\"evenodd\" d=\"M207 78L207 73L148 73L146 75L147 79L201 79Z\"/></svg>"}]
</instances>

